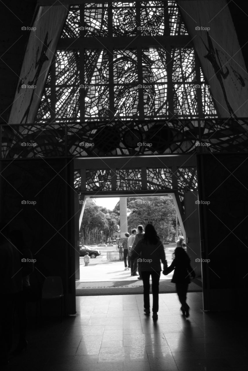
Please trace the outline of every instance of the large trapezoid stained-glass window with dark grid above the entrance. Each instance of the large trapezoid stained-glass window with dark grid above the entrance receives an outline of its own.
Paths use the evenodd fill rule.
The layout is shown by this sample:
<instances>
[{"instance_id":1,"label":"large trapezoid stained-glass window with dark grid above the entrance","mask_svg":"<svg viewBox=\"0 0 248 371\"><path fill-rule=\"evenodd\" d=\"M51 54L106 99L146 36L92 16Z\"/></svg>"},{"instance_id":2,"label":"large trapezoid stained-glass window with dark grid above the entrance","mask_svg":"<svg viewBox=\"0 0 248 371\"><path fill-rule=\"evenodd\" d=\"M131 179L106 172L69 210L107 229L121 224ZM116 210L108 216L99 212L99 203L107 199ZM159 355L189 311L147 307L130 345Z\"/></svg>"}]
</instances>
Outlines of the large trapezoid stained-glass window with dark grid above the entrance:
<instances>
[{"instance_id":1,"label":"large trapezoid stained-glass window with dark grid above the entrance","mask_svg":"<svg viewBox=\"0 0 248 371\"><path fill-rule=\"evenodd\" d=\"M55 65L37 122L217 116L175 1L72 5Z\"/></svg>"}]
</instances>

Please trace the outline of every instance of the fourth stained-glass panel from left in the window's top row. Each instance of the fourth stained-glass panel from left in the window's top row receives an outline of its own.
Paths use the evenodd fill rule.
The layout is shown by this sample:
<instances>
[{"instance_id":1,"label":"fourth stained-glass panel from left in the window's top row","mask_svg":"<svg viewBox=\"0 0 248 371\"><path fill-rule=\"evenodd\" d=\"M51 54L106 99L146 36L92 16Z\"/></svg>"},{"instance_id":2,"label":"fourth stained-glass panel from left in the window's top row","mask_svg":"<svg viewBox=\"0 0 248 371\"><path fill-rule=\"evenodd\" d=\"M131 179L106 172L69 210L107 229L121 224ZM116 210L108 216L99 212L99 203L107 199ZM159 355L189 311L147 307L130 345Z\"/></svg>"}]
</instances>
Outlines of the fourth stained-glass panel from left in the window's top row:
<instances>
[{"instance_id":1,"label":"fourth stained-glass panel from left in the window's top row","mask_svg":"<svg viewBox=\"0 0 248 371\"><path fill-rule=\"evenodd\" d=\"M140 29L142 36L165 35L165 4L161 1L140 3Z\"/></svg>"}]
</instances>

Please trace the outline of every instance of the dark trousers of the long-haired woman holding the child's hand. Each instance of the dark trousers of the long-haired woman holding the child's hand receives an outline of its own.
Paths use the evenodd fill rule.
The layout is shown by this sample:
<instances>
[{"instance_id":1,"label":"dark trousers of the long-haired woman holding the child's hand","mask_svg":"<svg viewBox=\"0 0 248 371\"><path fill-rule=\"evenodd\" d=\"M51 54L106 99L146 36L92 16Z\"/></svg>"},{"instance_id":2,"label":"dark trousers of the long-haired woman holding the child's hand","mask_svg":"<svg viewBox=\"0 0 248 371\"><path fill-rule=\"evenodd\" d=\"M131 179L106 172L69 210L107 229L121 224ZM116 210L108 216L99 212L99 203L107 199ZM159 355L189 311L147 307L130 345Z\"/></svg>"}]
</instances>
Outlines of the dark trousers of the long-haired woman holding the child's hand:
<instances>
[{"instance_id":1,"label":"dark trousers of the long-haired woman holding the child's hand","mask_svg":"<svg viewBox=\"0 0 248 371\"><path fill-rule=\"evenodd\" d=\"M159 279L161 272L142 272L143 288L144 288L144 308L150 309L150 275L152 276L152 312L158 312L158 293Z\"/></svg>"}]
</instances>

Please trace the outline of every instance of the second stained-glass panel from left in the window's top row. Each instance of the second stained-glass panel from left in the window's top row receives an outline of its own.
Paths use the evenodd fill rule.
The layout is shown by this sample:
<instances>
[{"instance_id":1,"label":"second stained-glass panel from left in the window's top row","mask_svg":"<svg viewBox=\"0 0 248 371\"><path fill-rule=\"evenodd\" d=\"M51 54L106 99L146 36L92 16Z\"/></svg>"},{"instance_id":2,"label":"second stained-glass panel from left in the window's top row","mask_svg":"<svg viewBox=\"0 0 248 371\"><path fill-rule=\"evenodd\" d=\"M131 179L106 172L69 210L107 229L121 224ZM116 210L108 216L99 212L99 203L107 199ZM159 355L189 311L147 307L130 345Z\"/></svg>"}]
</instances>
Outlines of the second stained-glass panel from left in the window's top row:
<instances>
[{"instance_id":1,"label":"second stained-glass panel from left in the window's top row","mask_svg":"<svg viewBox=\"0 0 248 371\"><path fill-rule=\"evenodd\" d=\"M108 3L85 4L84 36L103 37L108 35Z\"/></svg>"}]
</instances>

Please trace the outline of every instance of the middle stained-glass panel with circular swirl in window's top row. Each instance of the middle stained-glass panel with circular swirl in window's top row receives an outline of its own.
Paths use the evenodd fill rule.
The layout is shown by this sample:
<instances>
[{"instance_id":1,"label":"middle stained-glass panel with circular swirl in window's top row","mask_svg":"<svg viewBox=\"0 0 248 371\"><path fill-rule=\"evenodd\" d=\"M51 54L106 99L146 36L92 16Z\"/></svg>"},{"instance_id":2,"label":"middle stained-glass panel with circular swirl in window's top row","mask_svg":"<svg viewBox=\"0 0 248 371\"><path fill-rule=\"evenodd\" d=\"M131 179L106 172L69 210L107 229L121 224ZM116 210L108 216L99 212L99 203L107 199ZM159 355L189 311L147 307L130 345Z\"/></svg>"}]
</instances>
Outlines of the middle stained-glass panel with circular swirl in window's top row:
<instances>
[{"instance_id":1,"label":"middle stained-glass panel with circular swirl in window's top row","mask_svg":"<svg viewBox=\"0 0 248 371\"><path fill-rule=\"evenodd\" d=\"M113 36L136 36L135 2L115 1L112 5Z\"/></svg>"}]
</instances>

